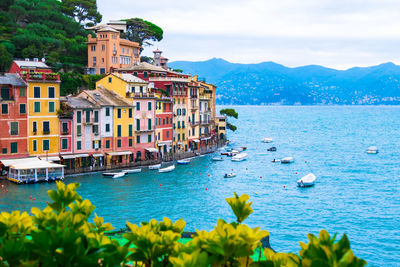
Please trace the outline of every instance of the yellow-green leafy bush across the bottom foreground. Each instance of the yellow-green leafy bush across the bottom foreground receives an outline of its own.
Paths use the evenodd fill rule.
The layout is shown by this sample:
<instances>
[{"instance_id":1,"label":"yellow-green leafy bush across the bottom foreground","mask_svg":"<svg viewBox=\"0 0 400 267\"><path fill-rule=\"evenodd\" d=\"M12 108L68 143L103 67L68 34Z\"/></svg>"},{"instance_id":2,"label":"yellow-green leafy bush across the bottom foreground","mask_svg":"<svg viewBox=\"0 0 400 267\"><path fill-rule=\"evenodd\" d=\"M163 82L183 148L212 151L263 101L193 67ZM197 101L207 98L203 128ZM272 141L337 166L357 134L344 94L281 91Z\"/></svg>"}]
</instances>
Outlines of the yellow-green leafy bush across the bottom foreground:
<instances>
[{"instance_id":1,"label":"yellow-green leafy bush across the bottom foreground","mask_svg":"<svg viewBox=\"0 0 400 267\"><path fill-rule=\"evenodd\" d=\"M112 230L103 218L88 221L95 207L82 200L76 183L57 182L49 190L53 201L43 210L3 212L0 215L0 266L364 266L354 256L346 235L335 236L322 230L319 237L308 235L300 242L299 255L262 250L261 239L269 233L250 228L243 221L253 212L249 196L226 199L236 222L218 220L214 230L197 231L186 244L179 243L185 228L181 219L164 218L140 226L127 223L125 245L105 235ZM258 251L258 252L257 252ZM261 255L261 253L263 255Z\"/></svg>"}]
</instances>

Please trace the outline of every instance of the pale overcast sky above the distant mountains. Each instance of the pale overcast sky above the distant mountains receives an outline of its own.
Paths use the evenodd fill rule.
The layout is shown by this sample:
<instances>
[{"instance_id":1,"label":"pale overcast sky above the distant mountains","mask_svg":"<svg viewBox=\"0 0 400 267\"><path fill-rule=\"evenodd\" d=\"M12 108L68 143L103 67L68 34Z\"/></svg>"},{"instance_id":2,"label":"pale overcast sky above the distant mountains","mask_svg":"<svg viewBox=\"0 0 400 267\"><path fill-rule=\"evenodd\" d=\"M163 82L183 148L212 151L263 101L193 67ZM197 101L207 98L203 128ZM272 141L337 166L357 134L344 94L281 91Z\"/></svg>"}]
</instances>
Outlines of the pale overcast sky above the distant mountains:
<instances>
[{"instance_id":1,"label":"pale overcast sky above the distant mountains","mask_svg":"<svg viewBox=\"0 0 400 267\"><path fill-rule=\"evenodd\" d=\"M160 26L176 60L275 61L338 69L400 64L399 0L97 0L103 22L139 17Z\"/></svg>"}]
</instances>

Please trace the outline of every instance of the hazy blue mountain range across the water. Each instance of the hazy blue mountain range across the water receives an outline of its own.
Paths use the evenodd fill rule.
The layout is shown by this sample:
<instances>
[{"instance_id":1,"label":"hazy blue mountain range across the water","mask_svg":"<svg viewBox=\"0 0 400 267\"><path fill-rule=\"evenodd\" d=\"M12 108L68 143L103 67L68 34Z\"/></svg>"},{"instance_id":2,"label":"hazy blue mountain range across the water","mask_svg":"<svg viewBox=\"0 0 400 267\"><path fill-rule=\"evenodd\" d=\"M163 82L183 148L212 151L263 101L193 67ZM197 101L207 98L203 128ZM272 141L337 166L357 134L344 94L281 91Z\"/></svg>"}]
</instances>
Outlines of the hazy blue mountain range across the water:
<instances>
[{"instance_id":1,"label":"hazy blue mountain range across the water","mask_svg":"<svg viewBox=\"0 0 400 267\"><path fill-rule=\"evenodd\" d=\"M288 68L274 62L175 61L171 68L217 85L218 104L400 104L400 66L335 70L318 65Z\"/></svg>"}]
</instances>

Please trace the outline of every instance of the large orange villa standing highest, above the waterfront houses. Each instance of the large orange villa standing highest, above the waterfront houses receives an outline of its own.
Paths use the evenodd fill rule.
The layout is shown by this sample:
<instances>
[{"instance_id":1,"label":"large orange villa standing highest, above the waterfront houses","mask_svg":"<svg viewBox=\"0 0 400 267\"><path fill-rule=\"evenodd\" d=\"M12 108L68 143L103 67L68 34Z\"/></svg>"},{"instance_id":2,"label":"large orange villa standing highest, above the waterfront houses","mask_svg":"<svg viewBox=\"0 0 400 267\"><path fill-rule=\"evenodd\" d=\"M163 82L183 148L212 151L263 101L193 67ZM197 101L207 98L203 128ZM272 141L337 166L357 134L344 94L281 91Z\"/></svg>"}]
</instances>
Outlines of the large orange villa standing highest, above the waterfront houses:
<instances>
[{"instance_id":1,"label":"large orange villa standing highest, above the waterfront houses","mask_svg":"<svg viewBox=\"0 0 400 267\"><path fill-rule=\"evenodd\" d=\"M120 32L109 26L96 35L88 36L88 74L111 73L140 62L139 43L121 39Z\"/></svg>"}]
</instances>

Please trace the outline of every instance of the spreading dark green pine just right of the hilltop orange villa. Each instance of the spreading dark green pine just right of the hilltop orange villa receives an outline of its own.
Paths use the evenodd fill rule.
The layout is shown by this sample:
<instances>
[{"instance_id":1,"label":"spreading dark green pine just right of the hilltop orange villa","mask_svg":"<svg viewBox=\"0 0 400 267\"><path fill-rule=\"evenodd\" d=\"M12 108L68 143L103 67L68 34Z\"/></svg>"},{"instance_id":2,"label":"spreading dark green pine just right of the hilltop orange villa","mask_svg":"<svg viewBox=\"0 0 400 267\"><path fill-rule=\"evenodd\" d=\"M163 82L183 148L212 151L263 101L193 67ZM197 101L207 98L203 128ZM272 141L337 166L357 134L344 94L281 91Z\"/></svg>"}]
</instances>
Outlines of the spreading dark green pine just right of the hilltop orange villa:
<instances>
[{"instance_id":1,"label":"spreading dark green pine just right of the hilltop orange villa","mask_svg":"<svg viewBox=\"0 0 400 267\"><path fill-rule=\"evenodd\" d=\"M161 41L163 30L157 25L140 18L125 19L126 38L140 45L152 45L152 42Z\"/></svg>"}]
</instances>

